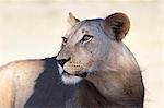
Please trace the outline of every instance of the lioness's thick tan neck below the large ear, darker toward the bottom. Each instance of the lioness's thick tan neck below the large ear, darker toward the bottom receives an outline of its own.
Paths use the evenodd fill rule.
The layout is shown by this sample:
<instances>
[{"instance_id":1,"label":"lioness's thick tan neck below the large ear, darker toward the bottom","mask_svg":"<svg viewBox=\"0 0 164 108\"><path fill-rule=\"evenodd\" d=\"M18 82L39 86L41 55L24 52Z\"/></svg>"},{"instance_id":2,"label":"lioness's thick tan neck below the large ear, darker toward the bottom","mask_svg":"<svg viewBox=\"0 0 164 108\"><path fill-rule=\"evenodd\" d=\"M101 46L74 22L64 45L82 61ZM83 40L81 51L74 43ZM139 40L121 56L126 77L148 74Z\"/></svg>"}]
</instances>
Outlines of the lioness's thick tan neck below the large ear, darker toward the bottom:
<instances>
[{"instance_id":1,"label":"lioness's thick tan neck below the large ear, darker toward the bottom","mask_svg":"<svg viewBox=\"0 0 164 108\"><path fill-rule=\"evenodd\" d=\"M127 52L125 52L126 50ZM92 72L87 80L108 101L106 104L108 108L143 108L144 87L136 59L128 49L121 50L117 57L115 56L110 55L112 58L117 58L115 65L110 64L112 58L107 63L115 71Z\"/></svg>"}]
</instances>

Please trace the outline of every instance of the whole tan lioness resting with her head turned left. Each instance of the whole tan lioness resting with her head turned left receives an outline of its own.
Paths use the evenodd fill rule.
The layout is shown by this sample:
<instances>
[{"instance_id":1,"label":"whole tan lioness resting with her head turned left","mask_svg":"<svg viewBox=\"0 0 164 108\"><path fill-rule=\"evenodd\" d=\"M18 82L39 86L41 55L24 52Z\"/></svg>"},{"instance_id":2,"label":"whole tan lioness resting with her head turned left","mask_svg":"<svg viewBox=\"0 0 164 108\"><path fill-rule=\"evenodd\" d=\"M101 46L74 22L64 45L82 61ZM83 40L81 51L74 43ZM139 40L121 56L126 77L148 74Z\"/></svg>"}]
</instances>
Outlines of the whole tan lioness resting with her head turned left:
<instances>
[{"instance_id":1,"label":"whole tan lioness resting with her head turned left","mask_svg":"<svg viewBox=\"0 0 164 108\"><path fill-rule=\"evenodd\" d=\"M69 22L57 57L0 68L0 108L143 108L141 71L121 41L128 16L80 21L70 13Z\"/></svg>"}]
</instances>

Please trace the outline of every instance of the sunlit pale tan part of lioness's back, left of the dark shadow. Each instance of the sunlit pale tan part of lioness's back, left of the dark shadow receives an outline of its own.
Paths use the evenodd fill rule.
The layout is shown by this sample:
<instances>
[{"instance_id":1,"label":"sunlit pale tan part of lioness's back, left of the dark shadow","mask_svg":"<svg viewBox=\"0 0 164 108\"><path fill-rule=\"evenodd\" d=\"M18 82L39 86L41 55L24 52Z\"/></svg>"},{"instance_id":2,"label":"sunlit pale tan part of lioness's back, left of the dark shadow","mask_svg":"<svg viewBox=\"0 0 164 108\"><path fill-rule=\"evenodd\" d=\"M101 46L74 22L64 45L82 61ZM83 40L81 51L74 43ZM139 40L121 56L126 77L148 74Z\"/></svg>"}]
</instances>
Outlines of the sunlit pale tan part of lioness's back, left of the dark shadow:
<instances>
[{"instance_id":1,"label":"sunlit pale tan part of lioness's back, left of the dark shadow","mask_svg":"<svg viewBox=\"0 0 164 108\"><path fill-rule=\"evenodd\" d=\"M1 67L0 108L12 108L14 105L16 108L22 107L33 91L35 79L43 70L42 60L14 61Z\"/></svg>"}]
</instances>

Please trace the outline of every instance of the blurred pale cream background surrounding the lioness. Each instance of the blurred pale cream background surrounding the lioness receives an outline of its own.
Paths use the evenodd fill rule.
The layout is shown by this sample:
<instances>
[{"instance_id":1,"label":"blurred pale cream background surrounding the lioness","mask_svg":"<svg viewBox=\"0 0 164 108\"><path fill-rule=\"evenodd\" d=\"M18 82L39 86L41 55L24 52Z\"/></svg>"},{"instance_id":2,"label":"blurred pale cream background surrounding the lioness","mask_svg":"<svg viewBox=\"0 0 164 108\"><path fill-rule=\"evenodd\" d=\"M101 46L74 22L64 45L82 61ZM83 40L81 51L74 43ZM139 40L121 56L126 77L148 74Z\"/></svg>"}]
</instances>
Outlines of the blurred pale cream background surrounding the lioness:
<instances>
[{"instance_id":1,"label":"blurred pale cream background surrounding the lioness","mask_svg":"<svg viewBox=\"0 0 164 108\"><path fill-rule=\"evenodd\" d=\"M124 41L143 71L144 108L164 108L163 0L0 0L0 65L56 56L69 12L81 20L114 12L130 17Z\"/></svg>"}]
</instances>

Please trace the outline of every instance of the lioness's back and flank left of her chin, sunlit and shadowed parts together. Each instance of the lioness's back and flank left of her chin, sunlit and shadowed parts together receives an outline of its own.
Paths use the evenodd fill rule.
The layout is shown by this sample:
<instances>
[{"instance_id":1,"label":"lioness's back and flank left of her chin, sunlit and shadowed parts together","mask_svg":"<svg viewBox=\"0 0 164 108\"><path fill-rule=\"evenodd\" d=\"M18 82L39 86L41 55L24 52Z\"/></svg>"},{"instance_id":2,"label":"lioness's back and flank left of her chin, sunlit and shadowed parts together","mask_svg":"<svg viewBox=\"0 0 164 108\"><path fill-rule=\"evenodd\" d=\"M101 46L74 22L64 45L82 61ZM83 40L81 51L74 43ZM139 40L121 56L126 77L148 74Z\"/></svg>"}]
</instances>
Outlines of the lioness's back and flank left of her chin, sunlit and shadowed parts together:
<instances>
[{"instance_id":1,"label":"lioness's back and flank left of her chin, sunlit and shadowed parts together","mask_svg":"<svg viewBox=\"0 0 164 108\"><path fill-rule=\"evenodd\" d=\"M0 108L65 107L74 87L61 83L55 58L14 61L0 68Z\"/></svg>"}]
</instances>

